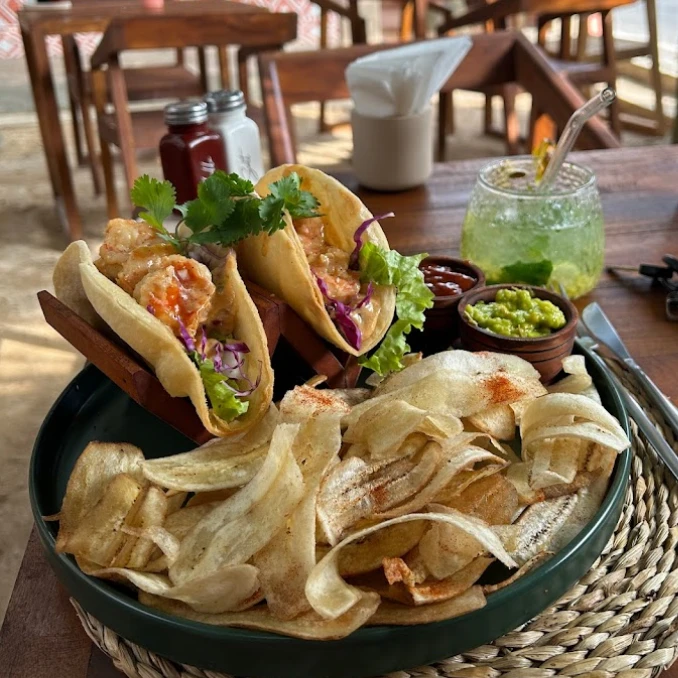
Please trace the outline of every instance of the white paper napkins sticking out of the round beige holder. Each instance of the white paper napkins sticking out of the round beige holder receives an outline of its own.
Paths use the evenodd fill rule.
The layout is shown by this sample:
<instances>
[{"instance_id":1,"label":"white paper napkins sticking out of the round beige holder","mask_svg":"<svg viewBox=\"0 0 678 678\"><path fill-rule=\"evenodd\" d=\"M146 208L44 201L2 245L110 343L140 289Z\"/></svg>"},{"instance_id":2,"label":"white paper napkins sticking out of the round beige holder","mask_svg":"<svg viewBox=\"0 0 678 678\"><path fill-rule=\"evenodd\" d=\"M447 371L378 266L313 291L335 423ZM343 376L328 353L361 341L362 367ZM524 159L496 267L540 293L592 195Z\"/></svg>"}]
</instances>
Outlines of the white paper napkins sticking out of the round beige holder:
<instances>
[{"instance_id":1,"label":"white paper napkins sticking out of the round beige holder","mask_svg":"<svg viewBox=\"0 0 678 678\"><path fill-rule=\"evenodd\" d=\"M421 113L471 44L468 36L440 38L356 59L346 69L356 111L374 118Z\"/></svg>"}]
</instances>

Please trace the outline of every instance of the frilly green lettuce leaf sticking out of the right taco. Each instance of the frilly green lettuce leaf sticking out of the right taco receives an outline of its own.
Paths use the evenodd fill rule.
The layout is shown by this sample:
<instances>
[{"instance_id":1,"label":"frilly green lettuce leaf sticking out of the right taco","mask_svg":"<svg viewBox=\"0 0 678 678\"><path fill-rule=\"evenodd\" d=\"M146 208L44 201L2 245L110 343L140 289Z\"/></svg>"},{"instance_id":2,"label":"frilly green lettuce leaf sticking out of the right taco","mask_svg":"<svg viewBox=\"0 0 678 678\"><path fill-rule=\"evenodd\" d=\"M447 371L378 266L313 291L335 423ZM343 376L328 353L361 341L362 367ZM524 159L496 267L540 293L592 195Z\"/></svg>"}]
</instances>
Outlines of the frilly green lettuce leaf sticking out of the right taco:
<instances>
[{"instance_id":1,"label":"frilly green lettuce leaf sticking out of the right taco","mask_svg":"<svg viewBox=\"0 0 678 678\"><path fill-rule=\"evenodd\" d=\"M406 335L413 327L422 329L424 311L433 306L433 293L426 287L424 274L419 269L421 260L426 256L415 254L406 257L373 242L366 242L360 250L361 280L396 288L398 319L391 325L379 348L371 356L360 358L362 366L382 377L405 367L402 359L410 350Z\"/></svg>"}]
</instances>

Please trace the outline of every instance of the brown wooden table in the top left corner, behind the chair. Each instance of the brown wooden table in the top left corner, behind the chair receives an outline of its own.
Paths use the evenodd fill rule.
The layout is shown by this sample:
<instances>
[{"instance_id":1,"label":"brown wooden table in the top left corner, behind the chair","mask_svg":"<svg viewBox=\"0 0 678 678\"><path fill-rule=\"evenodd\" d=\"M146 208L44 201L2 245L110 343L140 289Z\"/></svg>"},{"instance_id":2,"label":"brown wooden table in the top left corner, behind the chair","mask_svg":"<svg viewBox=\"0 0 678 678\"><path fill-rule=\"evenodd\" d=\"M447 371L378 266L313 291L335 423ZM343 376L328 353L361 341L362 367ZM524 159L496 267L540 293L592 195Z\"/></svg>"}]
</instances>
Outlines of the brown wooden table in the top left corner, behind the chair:
<instances>
[{"instance_id":1,"label":"brown wooden table in the top left corner, behind the chair","mask_svg":"<svg viewBox=\"0 0 678 678\"><path fill-rule=\"evenodd\" d=\"M106 30L106 26L113 17L134 18L148 14L184 16L206 11L252 13L268 10L228 0L200 0L200 2L168 0L161 9L153 10L145 8L139 0L98 0L91 3L75 3L65 9L52 8L49 5L32 5L25 6L19 11L21 38L24 43L52 191L59 218L62 225L69 230L72 239L82 237L82 222L73 190L73 179L68 164L63 131L59 122L59 106L47 56L47 37L74 35L75 33L100 33Z\"/></svg>"}]
</instances>

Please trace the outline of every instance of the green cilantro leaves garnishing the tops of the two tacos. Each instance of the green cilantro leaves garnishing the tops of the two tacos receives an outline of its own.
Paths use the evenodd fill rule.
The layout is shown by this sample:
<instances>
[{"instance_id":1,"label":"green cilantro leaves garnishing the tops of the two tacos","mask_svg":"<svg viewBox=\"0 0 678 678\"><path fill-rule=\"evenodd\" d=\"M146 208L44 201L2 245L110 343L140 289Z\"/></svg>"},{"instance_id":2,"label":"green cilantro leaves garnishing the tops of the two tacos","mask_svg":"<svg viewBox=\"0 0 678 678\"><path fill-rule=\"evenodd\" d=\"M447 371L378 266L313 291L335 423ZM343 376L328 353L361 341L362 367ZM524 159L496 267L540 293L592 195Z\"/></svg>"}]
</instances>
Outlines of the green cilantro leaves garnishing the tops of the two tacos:
<instances>
[{"instance_id":1,"label":"green cilantro leaves garnishing the tops of the two tacos","mask_svg":"<svg viewBox=\"0 0 678 678\"><path fill-rule=\"evenodd\" d=\"M132 189L132 202L143 208L140 217L165 240L183 251L189 245L218 243L233 245L250 235L275 233L285 227L284 212L293 218L319 216L316 198L301 189L301 179L292 173L269 186L270 194L260 198L254 185L235 173L217 171L198 185L195 200L176 205L176 192L169 181L144 175ZM164 226L172 210L177 209L191 234L180 238ZM177 226L178 228L178 226Z\"/></svg>"}]
</instances>

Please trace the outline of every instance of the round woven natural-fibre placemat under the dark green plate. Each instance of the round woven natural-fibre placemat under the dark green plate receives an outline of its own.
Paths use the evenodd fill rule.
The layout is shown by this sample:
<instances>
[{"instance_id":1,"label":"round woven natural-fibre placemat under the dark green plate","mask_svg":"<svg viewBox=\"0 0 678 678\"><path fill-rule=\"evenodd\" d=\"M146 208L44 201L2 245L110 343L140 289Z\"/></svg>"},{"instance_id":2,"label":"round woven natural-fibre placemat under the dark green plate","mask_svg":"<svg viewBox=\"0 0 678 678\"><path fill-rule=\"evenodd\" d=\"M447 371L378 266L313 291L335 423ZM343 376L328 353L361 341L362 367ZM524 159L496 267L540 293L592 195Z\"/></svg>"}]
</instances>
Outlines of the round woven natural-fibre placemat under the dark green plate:
<instances>
[{"instance_id":1,"label":"round woven natural-fibre placemat under the dark green plate","mask_svg":"<svg viewBox=\"0 0 678 678\"><path fill-rule=\"evenodd\" d=\"M630 375L612 367L678 453L661 414ZM678 485L633 422L632 429L624 509L588 574L555 605L494 642L388 678L651 678L673 663L678 657ZM92 641L129 678L231 678L163 659L72 603Z\"/></svg>"}]
</instances>

